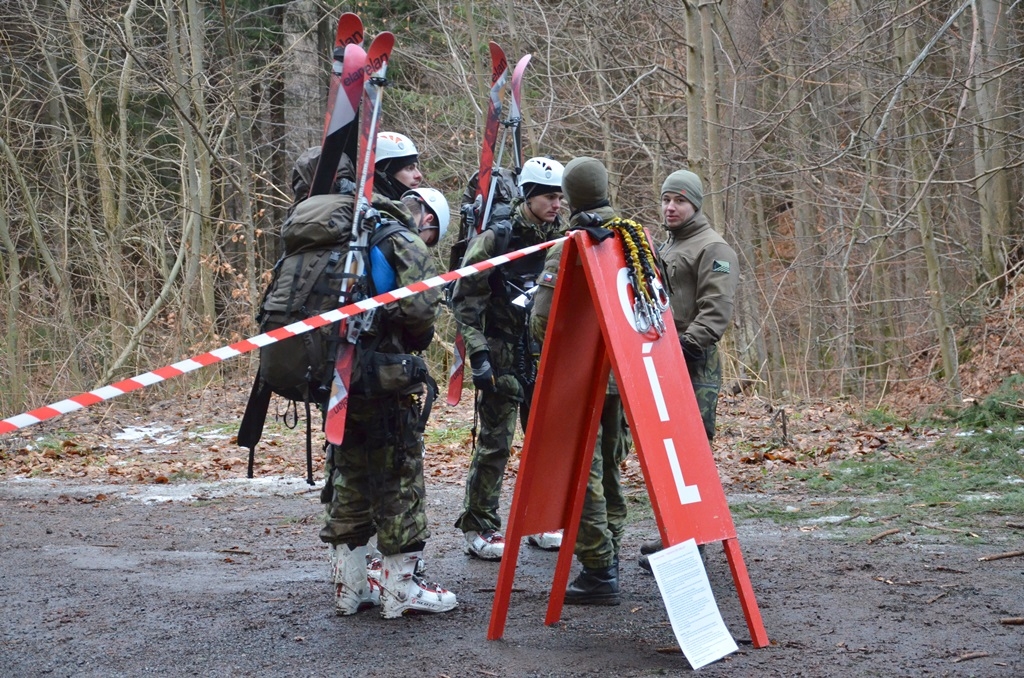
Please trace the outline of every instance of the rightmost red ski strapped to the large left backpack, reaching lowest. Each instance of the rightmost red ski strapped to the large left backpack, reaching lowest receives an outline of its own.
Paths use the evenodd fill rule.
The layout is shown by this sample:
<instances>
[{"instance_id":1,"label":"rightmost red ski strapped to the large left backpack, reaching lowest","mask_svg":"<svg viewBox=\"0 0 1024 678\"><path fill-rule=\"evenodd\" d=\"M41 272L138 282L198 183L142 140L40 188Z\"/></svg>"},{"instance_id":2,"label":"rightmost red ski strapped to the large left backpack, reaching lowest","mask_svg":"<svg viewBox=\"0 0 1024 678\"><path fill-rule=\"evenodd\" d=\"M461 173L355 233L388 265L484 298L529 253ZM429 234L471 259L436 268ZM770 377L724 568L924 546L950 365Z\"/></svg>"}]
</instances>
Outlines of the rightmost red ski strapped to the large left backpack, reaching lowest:
<instances>
[{"instance_id":1,"label":"rightmost red ski strapped to the large left backpack, reaching lowest","mask_svg":"<svg viewBox=\"0 0 1024 678\"><path fill-rule=\"evenodd\" d=\"M348 254L345 258L347 273L343 284L342 304L356 301L353 291L358 281L366 273L365 254L373 231L373 225L367 223L371 218L370 204L374 193L374 158L377 149L377 122L380 119L381 98L384 93L387 62L394 48L394 35L381 33L370 44L366 53L366 66L358 84L362 90L362 110L359 113L359 143L356 154L356 205L352 215L352 238L349 241ZM345 72L348 73L348 49L345 50ZM360 48L361 51L361 48ZM354 80L354 78L353 78ZM348 82L343 83L346 87ZM324 430L327 441L331 444L341 444L345 437L345 419L348 412L348 385L352 377L352 363L355 359L355 342L359 333L373 321L372 312L365 312L351 320L341 323L342 341L338 345L338 355L334 364L334 380L331 383L331 399L328 401L327 418Z\"/></svg>"}]
</instances>

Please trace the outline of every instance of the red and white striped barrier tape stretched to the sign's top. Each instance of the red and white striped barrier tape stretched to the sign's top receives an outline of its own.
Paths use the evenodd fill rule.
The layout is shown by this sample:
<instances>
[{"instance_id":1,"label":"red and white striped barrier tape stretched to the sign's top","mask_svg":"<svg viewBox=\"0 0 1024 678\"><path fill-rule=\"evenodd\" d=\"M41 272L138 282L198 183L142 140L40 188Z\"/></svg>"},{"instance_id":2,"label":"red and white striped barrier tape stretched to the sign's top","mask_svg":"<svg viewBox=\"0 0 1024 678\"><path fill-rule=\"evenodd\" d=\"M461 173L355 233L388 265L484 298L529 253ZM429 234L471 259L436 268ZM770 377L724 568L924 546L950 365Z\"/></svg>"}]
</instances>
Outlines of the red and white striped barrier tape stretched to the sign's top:
<instances>
[{"instance_id":1,"label":"red and white striped barrier tape stretched to the sign's top","mask_svg":"<svg viewBox=\"0 0 1024 678\"><path fill-rule=\"evenodd\" d=\"M89 391L88 393L81 393L75 397L60 400L59 402L53 402L52 405L48 405L44 408L38 408L36 410L32 410L31 412L9 417L0 421L0 435L9 433L19 428L25 428L26 426L38 424L39 422L46 421L47 419L59 417L60 415L68 414L69 412L87 408L97 402L102 402L103 400L110 400L118 395L124 395L125 393L145 388L146 386L151 386L161 381L166 381L167 379L186 374L194 370L205 368L208 365L213 365L237 355L242 355L243 353L248 353L249 351L259 348L260 346L266 346L267 344L272 344L274 342L315 330L316 328L324 327L325 325L330 325L331 323L337 323L338 321L345 320L346 317L358 315L364 311L383 306L384 304L397 301L398 299L404 299L406 297L413 296L414 294L426 292L431 288L440 287L441 285L459 280L460 278L468 278L474 273L478 273L496 266L501 266L510 261L521 259L524 256L534 254L535 252L545 250L556 243L562 242L563 240L565 239L559 238L557 240L548 241L547 243L541 243L540 245L525 247L521 250L516 250L515 252L509 252L499 257L493 257L485 261L474 263L471 266L456 268L455 270L450 270L446 273L441 273L440 276L435 276L434 278L429 278L425 281L420 281L419 283L413 283L408 287L398 288L397 290L385 292L384 294L378 294L376 297L371 297L370 299L364 299L362 301L357 301L355 303L348 304L347 306L335 308L334 310L329 310L326 313L321 313L319 315L314 315L313 317L308 317L304 321L299 321L298 323L292 323L291 325L278 328L276 330L271 330L270 332L266 332L264 334L258 334L255 337L250 337L249 339L243 339L242 341L233 344L222 346L207 353L196 355L186 361L175 363L174 365L168 365L167 367L154 370L153 372L137 375L131 379L125 379L124 381L119 381L115 384L97 388L96 390Z\"/></svg>"}]
</instances>

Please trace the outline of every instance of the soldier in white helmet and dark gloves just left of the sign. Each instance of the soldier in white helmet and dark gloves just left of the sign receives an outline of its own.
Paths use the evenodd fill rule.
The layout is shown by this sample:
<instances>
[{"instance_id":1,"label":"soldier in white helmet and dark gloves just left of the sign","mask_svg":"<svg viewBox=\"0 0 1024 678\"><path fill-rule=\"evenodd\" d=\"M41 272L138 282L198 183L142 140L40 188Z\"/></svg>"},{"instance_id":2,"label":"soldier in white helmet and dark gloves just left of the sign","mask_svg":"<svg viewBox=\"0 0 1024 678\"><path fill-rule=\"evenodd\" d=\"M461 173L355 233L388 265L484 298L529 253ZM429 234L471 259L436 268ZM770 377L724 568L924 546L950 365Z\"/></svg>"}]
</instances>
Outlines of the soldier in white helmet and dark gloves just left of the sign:
<instances>
[{"instance_id":1,"label":"soldier in white helmet and dark gloves just left of the sign","mask_svg":"<svg viewBox=\"0 0 1024 678\"><path fill-rule=\"evenodd\" d=\"M513 201L507 222L488 225L470 242L462 265L557 237L561 171L561 164L547 158L524 163L520 174L523 198ZM489 273L464 278L452 295L472 366L480 418L463 512L455 524L465 534L466 553L485 560L500 560L505 550L498 501L512 452L516 413L526 397L521 372L532 361L528 341L524 341L528 339L526 309L512 301L536 285L543 265L544 254L538 252Z\"/></svg>"}]
</instances>

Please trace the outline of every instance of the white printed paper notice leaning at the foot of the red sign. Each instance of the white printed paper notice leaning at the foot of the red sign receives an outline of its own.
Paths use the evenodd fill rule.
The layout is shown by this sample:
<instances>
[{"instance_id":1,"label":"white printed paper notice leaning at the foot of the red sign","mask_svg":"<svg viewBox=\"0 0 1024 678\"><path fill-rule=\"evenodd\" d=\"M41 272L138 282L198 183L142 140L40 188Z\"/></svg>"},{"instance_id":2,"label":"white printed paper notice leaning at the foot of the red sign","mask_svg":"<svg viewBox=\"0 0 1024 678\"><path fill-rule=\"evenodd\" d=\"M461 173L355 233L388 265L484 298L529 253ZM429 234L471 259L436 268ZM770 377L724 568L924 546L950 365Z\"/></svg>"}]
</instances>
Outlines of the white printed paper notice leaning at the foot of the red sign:
<instances>
[{"instance_id":1,"label":"white printed paper notice leaning at the foot of the red sign","mask_svg":"<svg viewBox=\"0 0 1024 678\"><path fill-rule=\"evenodd\" d=\"M672 630L690 666L696 670L735 652L736 641L722 621L697 543L691 539L648 558Z\"/></svg>"}]
</instances>

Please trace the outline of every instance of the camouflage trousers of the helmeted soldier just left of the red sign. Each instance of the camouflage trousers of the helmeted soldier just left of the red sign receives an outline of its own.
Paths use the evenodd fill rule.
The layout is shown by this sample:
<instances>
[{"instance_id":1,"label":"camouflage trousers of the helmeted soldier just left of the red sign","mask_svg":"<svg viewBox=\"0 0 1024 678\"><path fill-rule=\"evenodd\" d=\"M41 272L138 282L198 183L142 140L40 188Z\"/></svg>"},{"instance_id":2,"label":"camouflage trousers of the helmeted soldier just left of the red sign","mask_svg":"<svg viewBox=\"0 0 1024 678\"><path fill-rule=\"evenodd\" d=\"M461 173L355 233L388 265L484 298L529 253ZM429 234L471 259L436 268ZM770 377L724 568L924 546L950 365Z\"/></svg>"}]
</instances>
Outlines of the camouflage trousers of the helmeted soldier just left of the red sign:
<instances>
[{"instance_id":1,"label":"camouflage trousers of the helmeted soldier just left of the red sign","mask_svg":"<svg viewBox=\"0 0 1024 678\"><path fill-rule=\"evenodd\" d=\"M477 397L480 426L466 476L462 515L455 522L455 526L464 533L500 529L502 526L498 500L502 494L505 466L512 454L516 413L523 398L522 388L512 375L499 377L494 392L480 391Z\"/></svg>"}]
</instances>

